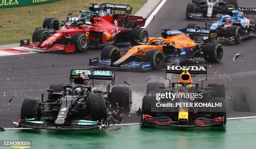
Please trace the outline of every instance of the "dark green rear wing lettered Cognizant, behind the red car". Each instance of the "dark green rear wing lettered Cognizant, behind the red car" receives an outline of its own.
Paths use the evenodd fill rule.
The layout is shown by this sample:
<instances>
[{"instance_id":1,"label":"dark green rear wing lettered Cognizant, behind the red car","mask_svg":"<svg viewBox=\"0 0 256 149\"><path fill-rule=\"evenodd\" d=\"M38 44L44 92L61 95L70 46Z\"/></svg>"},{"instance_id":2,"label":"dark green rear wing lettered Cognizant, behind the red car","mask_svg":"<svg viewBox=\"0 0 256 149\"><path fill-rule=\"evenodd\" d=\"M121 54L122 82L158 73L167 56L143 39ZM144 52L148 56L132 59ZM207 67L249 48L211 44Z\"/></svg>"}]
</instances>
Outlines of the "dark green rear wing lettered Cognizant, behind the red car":
<instances>
[{"instance_id":1,"label":"dark green rear wing lettered Cognizant, behind the red car","mask_svg":"<svg viewBox=\"0 0 256 149\"><path fill-rule=\"evenodd\" d=\"M124 4L112 4L112 3L102 3L100 5L107 13L109 14L123 14L123 15L131 15L133 8L131 5ZM123 13L124 12L124 13Z\"/></svg>"}]
</instances>

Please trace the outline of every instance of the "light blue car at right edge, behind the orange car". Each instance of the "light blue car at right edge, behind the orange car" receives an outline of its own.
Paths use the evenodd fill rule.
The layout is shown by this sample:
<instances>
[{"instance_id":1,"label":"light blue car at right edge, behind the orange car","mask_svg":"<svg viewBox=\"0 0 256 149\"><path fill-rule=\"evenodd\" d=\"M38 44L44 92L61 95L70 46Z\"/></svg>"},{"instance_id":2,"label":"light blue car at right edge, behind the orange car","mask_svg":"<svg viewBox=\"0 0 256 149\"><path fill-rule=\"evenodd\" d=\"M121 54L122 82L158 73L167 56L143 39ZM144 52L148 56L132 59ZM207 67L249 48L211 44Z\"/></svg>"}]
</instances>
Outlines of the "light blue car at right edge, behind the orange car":
<instances>
[{"instance_id":1,"label":"light blue car at right edge, behind the orange car","mask_svg":"<svg viewBox=\"0 0 256 149\"><path fill-rule=\"evenodd\" d=\"M240 43L242 39L256 34L256 22L253 22L254 15L256 15L256 8L238 8L229 11L228 15L221 15L218 21L207 20L204 28L200 28L198 24L190 23L187 26L187 32L216 30L218 32L217 42ZM207 22L210 22L210 25L207 25Z\"/></svg>"}]
</instances>

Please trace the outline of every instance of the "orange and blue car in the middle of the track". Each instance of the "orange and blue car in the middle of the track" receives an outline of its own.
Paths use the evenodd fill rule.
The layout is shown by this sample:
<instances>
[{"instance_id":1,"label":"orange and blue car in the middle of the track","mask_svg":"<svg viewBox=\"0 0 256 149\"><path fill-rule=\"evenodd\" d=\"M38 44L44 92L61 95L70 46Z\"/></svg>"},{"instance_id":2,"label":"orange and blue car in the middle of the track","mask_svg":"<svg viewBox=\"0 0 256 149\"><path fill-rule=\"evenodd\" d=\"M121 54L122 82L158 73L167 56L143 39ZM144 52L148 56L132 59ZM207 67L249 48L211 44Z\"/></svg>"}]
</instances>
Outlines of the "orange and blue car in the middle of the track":
<instances>
[{"instance_id":1,"label":"orange and blue car in the middle of the track","mask_svg":"<svg viewBox=\"0 0 256 149\"><path fill-rule=\"evenodd\" d=\"M161 33L162 38L148 38L146 43L119 50L118 47L107 45L99 58L90 59L89 65L118 69L161 69L166 64L180 63L187 60L204 58L207 62L218 63L223 56L220 43L215 43L218 32L186 33L186 29ZM200 36L204 36L200 40ZM194 40L192 40L194 39Z\"/></svg>"}]
</instances>

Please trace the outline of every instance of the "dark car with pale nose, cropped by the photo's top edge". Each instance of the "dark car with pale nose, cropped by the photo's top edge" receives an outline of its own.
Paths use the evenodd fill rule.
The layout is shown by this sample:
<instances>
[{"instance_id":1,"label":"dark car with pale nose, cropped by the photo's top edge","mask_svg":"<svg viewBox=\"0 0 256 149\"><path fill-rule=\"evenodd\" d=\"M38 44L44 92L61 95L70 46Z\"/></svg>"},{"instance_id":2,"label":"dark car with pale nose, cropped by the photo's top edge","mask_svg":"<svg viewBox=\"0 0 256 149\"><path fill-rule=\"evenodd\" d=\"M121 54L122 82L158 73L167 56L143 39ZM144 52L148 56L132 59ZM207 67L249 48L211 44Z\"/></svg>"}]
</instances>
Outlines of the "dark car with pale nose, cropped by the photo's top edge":
<instances>
[{"instance_id":1,"label":"dark car with pale nose, cropped by the photo's top edge","mask_svg":"<svg viewBox=\"0 0 256 149\"><path fill-rule=\"evenodd\" d=\"M230 8L238 8L238 0L192 0L187 4L187 19L218 18Z\"/></svg>"}]
</instances>

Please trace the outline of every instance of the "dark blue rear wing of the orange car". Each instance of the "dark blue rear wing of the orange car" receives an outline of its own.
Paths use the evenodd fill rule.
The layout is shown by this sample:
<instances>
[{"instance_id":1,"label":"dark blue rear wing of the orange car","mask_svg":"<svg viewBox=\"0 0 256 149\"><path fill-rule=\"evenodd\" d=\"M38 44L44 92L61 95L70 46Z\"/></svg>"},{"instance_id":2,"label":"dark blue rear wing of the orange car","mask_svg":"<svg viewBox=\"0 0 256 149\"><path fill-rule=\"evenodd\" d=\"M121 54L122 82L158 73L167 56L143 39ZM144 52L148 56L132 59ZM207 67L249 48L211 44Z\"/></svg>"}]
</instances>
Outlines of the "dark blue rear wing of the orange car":
<instances>
[{"instance_id":1,"label":"dark blue rear wing of the orange car","mask_svg":"<svg viewBox=\"0 0 256 149\"><path fill-rule=\"evenodd\" d=\"M216 41L218 39L218 35L219 32L216 30L209 30L206 28L199 28L199 29L195 29L195 28L185 28L182 29L184 33L187 33L189 35L192 35L192 39L195 36L195 41L197 41L197 37L198 36L203 36L204 38L202 38L204 41L208 41L208 42L212 42L212 41Z\"/></svg>"}]
</instances>

